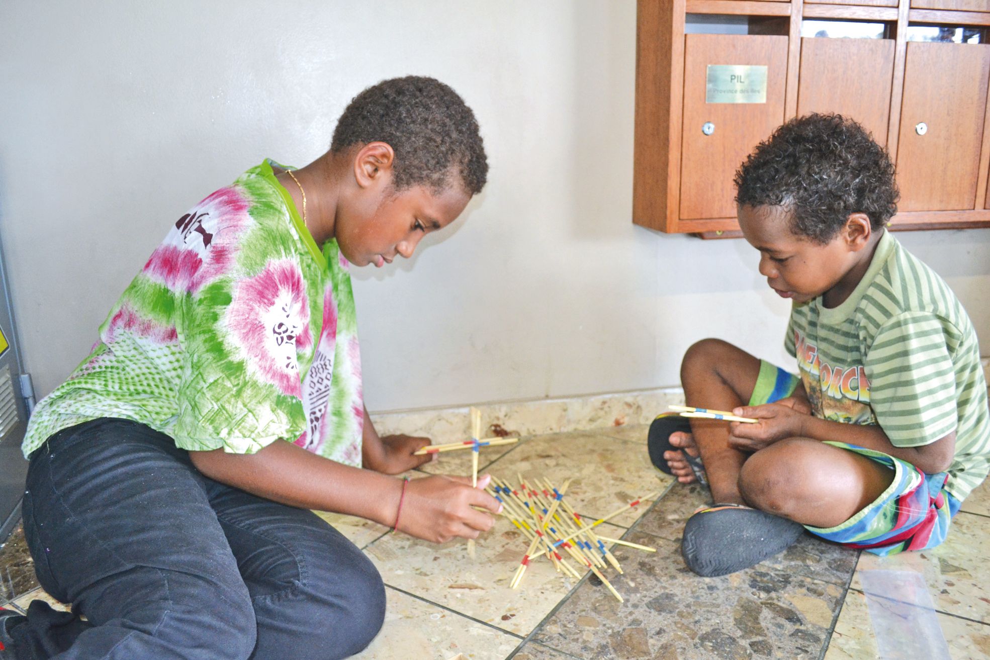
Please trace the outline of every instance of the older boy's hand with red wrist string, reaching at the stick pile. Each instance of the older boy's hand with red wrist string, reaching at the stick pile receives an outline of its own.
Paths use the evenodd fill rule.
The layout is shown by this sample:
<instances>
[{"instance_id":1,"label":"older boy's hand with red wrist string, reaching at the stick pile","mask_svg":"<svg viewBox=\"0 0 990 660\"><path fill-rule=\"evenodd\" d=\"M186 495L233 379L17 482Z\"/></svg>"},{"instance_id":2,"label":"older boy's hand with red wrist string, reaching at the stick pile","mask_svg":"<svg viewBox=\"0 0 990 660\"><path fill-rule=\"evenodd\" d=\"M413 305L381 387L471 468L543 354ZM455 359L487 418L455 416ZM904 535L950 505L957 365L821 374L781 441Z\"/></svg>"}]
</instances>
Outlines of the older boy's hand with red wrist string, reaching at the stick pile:
<instances>
[{"instance_id":1,"label":"older boy's hand with red wrist string, reaching at the stick pile","mask_svg":"<svg viewBox=\"0 0 990 660\"><path fill-rule=\"evenodd\" d=\"M490 475L483 475L478 478L478 487L471 488L469 477L413 479L406 486L399 529L435 543L446 543L454 536L477 538L495 522L487 513L472 507L492 514L502 511L502 504L483 490L490 481Z\"/></svg>"}]
</instances>

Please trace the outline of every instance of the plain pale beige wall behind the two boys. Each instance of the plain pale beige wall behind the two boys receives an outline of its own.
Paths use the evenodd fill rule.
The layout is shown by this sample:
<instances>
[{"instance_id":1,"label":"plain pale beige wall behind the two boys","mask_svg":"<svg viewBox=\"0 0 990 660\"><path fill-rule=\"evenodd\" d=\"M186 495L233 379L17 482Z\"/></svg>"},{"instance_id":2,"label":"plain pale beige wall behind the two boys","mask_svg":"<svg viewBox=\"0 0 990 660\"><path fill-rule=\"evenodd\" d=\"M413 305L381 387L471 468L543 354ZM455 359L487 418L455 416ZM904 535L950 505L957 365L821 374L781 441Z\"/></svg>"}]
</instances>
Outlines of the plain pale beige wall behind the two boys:
<instances>
[{"instance_id":1,"label":"plain pale beige wall behind the two boys","mask_svg":"<svg viewBox=\"0 0 990 660\"><path fill-rule=\"evenodd\" d=\"M36 388L188 207L319 155L408 73L474 108L491 175L411 262L355 272L370 409L672 385L708 335L783 359L751 248L630 222L635 36L632 0L0 4L0 233ZM990 343L990 231L900 237Z\"/></svg>"}]
</instances>

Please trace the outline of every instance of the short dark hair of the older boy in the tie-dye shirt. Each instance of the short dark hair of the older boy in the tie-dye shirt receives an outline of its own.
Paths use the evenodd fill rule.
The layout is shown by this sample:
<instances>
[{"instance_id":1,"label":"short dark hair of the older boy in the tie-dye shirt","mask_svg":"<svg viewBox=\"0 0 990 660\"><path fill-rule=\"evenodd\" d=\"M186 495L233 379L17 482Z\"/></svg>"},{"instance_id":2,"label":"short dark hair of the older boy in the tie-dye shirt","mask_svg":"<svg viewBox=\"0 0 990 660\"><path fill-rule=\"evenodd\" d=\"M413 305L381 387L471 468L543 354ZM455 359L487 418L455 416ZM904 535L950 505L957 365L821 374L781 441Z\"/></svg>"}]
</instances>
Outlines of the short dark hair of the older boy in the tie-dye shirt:
<instances>
[{"instance_id":1,"label":"short dark hair of the older boy in the tie-dye shirt","mask_svg":"<svg viewBox=\"0 0 990 660\"><path fill-rule=\"evenodd\" d=\"M383 80L350 101L337 122L331 151L373 141L395 151L392 181L397 190L414 185L443 190L451 173L471 195L485 185L488 161L474 113L435 78Z\"/></svg>"}]
</instances>

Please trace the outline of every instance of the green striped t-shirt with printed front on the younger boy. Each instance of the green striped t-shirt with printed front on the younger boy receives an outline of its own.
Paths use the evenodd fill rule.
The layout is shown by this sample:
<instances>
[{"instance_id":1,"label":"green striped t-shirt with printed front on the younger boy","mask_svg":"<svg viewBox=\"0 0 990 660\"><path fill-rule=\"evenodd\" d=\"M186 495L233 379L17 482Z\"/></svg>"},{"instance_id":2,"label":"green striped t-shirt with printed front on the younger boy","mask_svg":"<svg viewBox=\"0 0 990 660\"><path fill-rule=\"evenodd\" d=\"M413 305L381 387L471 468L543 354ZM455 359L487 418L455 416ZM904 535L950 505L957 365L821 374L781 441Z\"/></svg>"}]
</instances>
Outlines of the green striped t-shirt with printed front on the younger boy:
<instances>
[{"instance_id":1,"label":"green striped t-shirt with printed front on the younger boy","mask_svg":"<svg viewBox=\"0 0 990 660\"><path fill-rule=\"evenodd\" d=\"M959 500L990 468L990 413L976 332L935 271L889 232L840 306L796 304L785 339L816 416L879 424L894 446L955 431L947 489Z\"/></svg>"}]
</instances>

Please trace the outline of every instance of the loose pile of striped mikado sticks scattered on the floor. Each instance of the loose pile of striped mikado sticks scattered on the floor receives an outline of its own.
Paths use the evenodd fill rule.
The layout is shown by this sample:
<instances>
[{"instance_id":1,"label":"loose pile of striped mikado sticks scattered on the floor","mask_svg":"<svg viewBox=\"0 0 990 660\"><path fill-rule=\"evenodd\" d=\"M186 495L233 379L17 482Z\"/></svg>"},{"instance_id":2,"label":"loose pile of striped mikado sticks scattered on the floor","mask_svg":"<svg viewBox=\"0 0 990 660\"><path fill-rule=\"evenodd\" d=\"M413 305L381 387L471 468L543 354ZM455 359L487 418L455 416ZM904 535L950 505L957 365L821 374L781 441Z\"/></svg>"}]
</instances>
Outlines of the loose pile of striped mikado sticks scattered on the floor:
<instances>
[{"instance_id":1,"label":"loose pile of striped mikado sticks scattered on the floor","mask_svg":"<svg viewBox=\"0 0 990 660\"><path fill-rule=\"evenodd\" d=\"M605 568L605 562L622 574L622 566L611 551L606 547L606 543L616 543L629 547L644 550L645 552L656 552L655 548L630 543L629 541L617 538L608 538L596 534L592 529L608 519L615 518L619 514L636 508L646 500L652 500L656 493L644 495L644 497L617 509L602 519L597 519L590 524L585 522L570 505L564 501L563 495L567 492L567 487L571 480L568 479L557 490L546 479L536 479L529 484L524 481L522 475L519 477L519 489L513 488L510 484L492 476L491 485L485 489L489 495L503 504L502 516L507 517L514 525L530 539L530 547L527 549L523 560L519 563L519 568L512 578L509 586L518 589L526 574L526 567L530 560L540 554L553 562L557 572L580 579L579 573L570 563L560 555L558 548L569 554L578 564L583 564L595 574L602 584L605 585L612 595L623 602L622 596L615 590L600 568ZM534 552L537 555L534 555Z\"/></svg>"}]
</instances>

